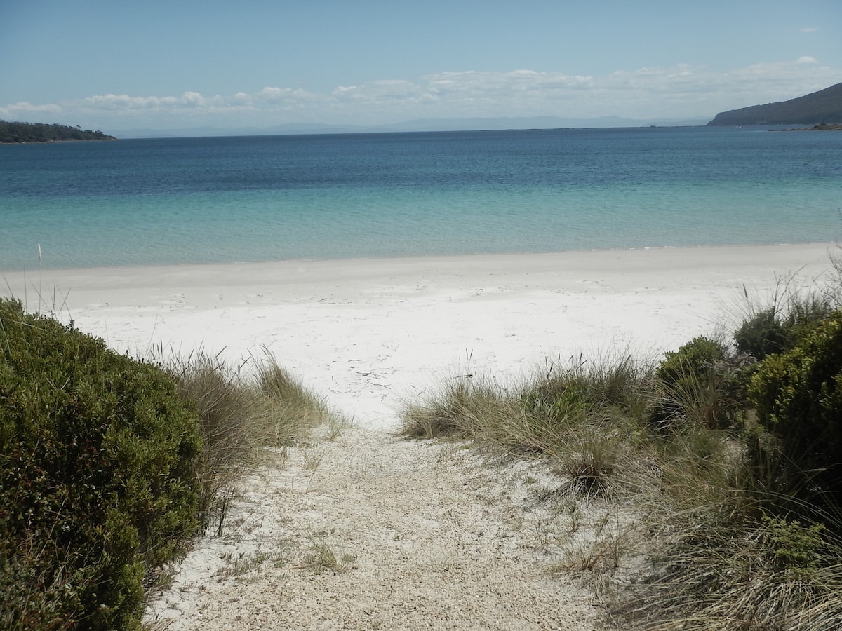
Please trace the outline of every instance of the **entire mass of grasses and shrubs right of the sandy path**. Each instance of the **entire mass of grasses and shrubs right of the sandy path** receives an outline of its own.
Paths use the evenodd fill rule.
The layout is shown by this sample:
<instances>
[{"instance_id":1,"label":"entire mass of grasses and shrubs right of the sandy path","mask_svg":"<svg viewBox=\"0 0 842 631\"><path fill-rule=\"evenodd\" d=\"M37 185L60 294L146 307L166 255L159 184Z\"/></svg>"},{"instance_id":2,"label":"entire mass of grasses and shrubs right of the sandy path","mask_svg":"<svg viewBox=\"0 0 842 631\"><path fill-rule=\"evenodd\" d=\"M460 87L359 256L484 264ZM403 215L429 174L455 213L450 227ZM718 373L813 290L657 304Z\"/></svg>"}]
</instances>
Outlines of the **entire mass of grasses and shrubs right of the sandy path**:
<instances>
[{"instance_id":1,"label":"entire mass of grasses and shrubs right of the sandy path","mask_svg":"<svg viewBox=\"0 0 842 631\"><path fill-rule=\"evenodd\" d=\"M780 284L733 339L658 363L578 356L514 385L465 371L408 403L402 432L550 459L563 496L628 516L616 532L635 536L586 564L621 628L842 628L840 287Z\"/></svg>"}]
</instances>

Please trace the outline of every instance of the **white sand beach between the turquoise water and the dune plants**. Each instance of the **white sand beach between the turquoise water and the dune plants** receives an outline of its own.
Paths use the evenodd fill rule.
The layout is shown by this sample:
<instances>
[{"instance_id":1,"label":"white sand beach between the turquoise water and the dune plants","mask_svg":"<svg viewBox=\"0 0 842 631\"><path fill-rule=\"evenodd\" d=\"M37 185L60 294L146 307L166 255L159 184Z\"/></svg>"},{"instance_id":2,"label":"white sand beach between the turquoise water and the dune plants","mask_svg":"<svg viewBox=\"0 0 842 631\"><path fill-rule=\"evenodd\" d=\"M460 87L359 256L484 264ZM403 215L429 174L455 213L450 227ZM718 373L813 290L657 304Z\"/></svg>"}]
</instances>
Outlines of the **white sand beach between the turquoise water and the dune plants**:
<instances>
[{"instance_id":1,"label":"white sand beach between the turquoise water and the dune plants","mask_svg":"<svg viewBox=\"0 0 842 631\"><path fill-rule=\"evenodd\" d=\"M56 312L120 353L238 362L265 347L364 426L456 371L516 379L584 353L658 358L793 276L813 286L833 244L37 270L4 296Z\"/></svg>"}]
</instances>

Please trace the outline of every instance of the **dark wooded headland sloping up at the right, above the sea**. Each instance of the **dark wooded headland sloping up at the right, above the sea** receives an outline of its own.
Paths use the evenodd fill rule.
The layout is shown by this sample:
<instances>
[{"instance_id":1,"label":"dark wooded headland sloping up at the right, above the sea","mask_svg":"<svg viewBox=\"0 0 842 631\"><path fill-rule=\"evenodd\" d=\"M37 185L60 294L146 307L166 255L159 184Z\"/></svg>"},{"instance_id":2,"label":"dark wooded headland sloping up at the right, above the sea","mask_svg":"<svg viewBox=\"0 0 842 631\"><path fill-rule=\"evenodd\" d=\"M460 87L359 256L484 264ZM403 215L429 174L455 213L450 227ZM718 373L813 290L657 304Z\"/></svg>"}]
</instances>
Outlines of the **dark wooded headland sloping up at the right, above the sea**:
<instances>
[{"instance_id":1,"label":"dark wooded headland sloping up at the right, above the sea","mask_svg":"<svg viewBox=\"0 0 842 631\"><path fill-rule=\"evenodd\" d=\"M720 112L708 125L819 125L842 123L842 83L781 103Z\"/></svg>"}]
</instances>

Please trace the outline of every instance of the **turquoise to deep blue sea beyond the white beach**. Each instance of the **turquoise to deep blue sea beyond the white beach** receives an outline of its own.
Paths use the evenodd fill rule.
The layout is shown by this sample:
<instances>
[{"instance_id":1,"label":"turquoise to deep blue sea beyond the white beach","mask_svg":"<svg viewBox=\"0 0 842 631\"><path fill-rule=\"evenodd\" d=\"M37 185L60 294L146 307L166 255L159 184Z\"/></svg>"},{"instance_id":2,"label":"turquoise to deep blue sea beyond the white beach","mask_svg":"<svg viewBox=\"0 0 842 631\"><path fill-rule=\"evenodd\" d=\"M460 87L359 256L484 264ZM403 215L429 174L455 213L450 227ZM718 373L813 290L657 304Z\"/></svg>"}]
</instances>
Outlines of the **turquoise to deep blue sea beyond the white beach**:
<instances>
[{"instance_id":1,"label":"turquoise to deep blue sea beyond the white beach","mask_svg":"<svg viewBox=\"0 0 842 631\"><path fill-rule=\"evenodd\" d=\"M840 208L842 132L0 146L0 271L831 242Z\"/></svg>"}]
</instances>

